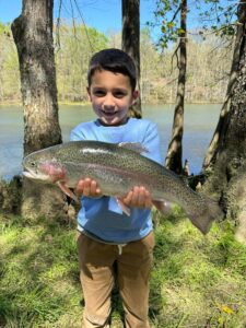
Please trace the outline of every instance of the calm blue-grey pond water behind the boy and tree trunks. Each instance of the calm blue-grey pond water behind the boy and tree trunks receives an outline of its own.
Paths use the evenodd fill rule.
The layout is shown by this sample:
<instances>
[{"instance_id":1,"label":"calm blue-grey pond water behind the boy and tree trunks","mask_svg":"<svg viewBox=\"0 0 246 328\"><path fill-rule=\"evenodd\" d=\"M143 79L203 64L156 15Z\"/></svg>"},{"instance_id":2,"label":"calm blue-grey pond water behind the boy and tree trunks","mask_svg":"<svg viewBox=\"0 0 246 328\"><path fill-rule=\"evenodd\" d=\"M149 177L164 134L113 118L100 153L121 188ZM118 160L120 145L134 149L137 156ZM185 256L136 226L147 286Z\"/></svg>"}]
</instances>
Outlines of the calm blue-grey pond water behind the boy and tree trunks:
<instances>
[{"instance_id":1,"label":"calm blue-grey pond water behind the boy and tree trunks","mask_svg":"<svg viewBox=\"0 0 246 328\"><path fill-rule=\"evenodd\" d=\"M213 131L220 104L192 104L185 108L183 157L189 162L190 172L198 174ZM163 159L172 134L174 105L144 105L143 117L159 126ZM81 121L95 119L91 106L60 106L60 126L63 141L71 129ZM0 177L11 178L22 172L23 112L21 106L0 106Z\"/></svg>"}]
</instances>

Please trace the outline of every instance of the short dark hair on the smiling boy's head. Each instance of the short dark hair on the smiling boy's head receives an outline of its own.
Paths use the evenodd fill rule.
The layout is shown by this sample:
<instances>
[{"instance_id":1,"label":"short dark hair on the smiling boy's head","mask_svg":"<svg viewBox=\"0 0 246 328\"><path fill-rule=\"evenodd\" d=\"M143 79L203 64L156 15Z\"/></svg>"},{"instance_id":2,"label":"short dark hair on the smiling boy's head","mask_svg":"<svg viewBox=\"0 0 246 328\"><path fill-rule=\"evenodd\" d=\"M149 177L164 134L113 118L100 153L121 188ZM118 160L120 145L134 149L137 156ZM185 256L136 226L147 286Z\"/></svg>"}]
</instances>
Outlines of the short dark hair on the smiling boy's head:
<instances>
[{"instance_id":1,"label":"short dark hair on the smiling boy's head","mask_svg":"<svg viewBox=\"0 0 246 328\"><path fill-rule=\"evenodd\" d=\"M89 86L96 70L106 70L129 77L132 91L136 89L137 72L133 60L129 55L119 49L104 49L91 58L87 72Z\"/></svg>"}]
</instances>

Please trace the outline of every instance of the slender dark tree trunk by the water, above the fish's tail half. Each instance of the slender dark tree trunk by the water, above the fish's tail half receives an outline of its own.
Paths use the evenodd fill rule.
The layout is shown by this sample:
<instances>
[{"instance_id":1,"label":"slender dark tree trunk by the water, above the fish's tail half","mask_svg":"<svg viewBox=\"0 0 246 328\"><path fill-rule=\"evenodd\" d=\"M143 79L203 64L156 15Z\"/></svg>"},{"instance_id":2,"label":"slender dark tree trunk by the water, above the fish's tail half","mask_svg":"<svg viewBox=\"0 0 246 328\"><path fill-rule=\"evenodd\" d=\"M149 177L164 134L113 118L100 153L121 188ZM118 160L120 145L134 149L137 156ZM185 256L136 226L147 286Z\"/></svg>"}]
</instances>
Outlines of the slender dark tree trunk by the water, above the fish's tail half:
<instances>
[{"instance_id":1,"label":"slender dark tree trunk by the water, above the fish's tail half","mask_svg":"<svg viewBox=\"0 0 246 328\"><path fill-rule=\"evenodd\" d=\"M174 112L174 122L172 140L168 145L168 151L165 160L167 168L174 171L177 174L183 172L183 132L184 132L184 106L185 106L185 85L186 85L186 19L187 19L187 1L183 0L180 4L180 40L178 45L179 60L178 60L178 85L176 107Z\"/></svg>"}]
</instances>

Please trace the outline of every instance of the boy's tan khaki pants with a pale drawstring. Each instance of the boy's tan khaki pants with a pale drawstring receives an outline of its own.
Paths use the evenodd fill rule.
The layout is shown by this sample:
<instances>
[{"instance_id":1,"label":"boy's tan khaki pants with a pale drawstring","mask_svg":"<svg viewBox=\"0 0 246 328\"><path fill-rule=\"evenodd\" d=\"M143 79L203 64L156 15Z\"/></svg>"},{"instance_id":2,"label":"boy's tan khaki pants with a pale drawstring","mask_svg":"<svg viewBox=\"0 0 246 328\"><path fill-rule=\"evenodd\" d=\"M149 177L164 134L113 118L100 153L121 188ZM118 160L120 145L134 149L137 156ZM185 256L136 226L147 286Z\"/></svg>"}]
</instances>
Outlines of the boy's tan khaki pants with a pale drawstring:
<instances>
[{"instance_id":1,"label":"boy's tan khaki pants with a pale drawstring","mask_svg":"<svg viewBox=\"0 0 246 328\"><path fill-rule=\"evenodd\" d=\"M119 288L127 328L149 328L149 279L154 235L117 245L78 238L80 279L85 301L83 327L109 327L110 295L115 279ZM120 254L121 253L121 254ZM115 269L116 268L116 269Z\"/></svg>"}]
</instances>

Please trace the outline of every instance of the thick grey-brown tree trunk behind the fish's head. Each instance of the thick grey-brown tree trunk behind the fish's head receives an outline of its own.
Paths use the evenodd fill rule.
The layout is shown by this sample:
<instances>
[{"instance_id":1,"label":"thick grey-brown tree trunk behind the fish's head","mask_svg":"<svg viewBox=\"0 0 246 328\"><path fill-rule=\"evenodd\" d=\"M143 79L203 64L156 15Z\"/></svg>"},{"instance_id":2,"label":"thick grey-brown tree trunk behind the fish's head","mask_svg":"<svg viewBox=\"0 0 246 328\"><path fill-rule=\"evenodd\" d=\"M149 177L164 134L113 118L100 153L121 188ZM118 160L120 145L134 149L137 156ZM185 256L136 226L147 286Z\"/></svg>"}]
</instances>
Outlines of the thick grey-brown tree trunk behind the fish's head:
<instances>
[{"instance_id":1,"label":"thick grey-brown tree trunk behind the fish's head","mask_svg":"<svg viewBox=\"0 0 246 328\"><path fill-rule=\"evenodd\" d=\"M21 72L24 155L61 142L52 44L52 0L23 0L22 14L11 26ZM63 204L63 196L58 188L24 179L23 215L56 216Z\"/></svg>"}]
</instances>

